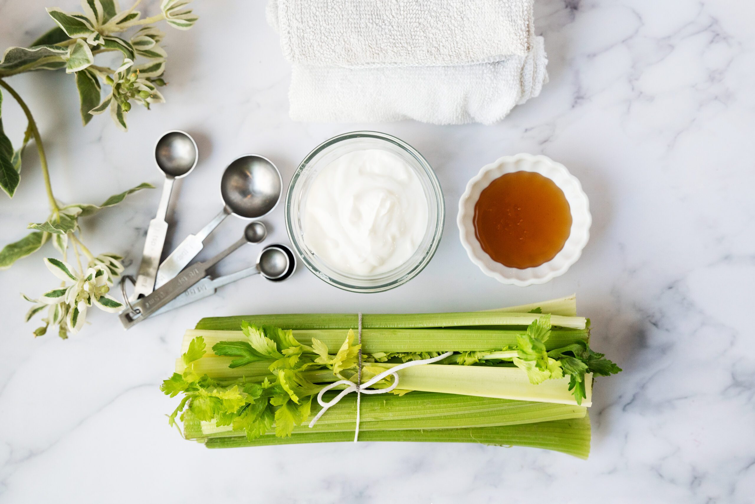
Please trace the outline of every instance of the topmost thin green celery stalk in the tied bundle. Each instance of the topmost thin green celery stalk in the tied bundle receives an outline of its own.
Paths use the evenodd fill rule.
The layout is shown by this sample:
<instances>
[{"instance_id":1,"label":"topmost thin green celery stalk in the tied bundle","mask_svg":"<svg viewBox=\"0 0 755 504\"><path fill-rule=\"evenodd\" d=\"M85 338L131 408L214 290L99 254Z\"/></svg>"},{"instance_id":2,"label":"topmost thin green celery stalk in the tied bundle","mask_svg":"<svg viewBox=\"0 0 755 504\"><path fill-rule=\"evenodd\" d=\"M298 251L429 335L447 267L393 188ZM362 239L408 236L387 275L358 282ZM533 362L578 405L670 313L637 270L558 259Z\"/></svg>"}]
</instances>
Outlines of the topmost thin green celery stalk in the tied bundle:
<instances>
[{"instance_id":1,"label":"topmost thin green celery stalk in the tied bundle","mask_svg":"<svg viewBox=\"0 0 755 504\"><path fill-rule=\"evenodd\" d=\"M364 314L364 329L414 329L468 326L529 326L541 315L498 311L472 311L448 314ZM240 315L236 317L208 317L199 320L196 329L236 330L242 321L282 329L354 329L357 314L271 314ZM585 317L552 315L550 323L557 327L585 329Z\"/></svg>"}]
</instances>

